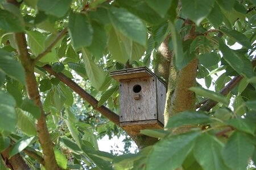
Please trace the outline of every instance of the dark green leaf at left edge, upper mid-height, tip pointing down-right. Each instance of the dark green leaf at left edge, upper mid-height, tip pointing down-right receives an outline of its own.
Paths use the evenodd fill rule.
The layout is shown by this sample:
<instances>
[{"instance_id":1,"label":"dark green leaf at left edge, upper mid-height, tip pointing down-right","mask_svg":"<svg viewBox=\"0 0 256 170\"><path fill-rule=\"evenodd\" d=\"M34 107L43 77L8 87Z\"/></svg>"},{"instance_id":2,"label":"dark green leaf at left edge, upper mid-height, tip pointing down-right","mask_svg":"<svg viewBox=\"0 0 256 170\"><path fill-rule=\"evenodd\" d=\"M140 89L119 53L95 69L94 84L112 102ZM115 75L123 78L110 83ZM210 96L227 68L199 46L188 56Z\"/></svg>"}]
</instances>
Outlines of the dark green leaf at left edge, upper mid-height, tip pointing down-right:
<instances>
[{"instance_id":1,"label":"dark green leaf at left edge, upper mid-height, tip pointing down-right","mask_svg":"<svg viewBox=\"0 0 256 170\"><path fill-rule=\"evenodd\" d=\"M0 49L0 72L7 74L25 85L25 73L22 65L8 54Z\"/></svg>"}]
</instances>

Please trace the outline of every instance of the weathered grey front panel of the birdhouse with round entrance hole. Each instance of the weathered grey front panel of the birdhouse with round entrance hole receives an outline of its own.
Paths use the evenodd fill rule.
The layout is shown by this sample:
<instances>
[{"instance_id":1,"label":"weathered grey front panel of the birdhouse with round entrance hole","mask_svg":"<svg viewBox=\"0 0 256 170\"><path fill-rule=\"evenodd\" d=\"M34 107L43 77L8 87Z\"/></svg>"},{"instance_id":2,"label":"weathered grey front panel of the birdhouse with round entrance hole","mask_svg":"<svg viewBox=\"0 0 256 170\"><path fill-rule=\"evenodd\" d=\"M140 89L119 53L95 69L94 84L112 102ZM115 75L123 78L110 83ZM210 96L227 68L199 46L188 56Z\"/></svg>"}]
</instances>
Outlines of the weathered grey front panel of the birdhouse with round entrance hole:
<instances>
[{"instance_id":1,"label":"weathered grey front panel of the birdhouse with round entrance hole","mask_svg":"<svg viewBox=\"0 0 256 170\"><path fill-rule=\"evenodd\" d=\"M144 121L157 118L156 78L121 80L120 121Z\"/></svg>"}]
</instances>

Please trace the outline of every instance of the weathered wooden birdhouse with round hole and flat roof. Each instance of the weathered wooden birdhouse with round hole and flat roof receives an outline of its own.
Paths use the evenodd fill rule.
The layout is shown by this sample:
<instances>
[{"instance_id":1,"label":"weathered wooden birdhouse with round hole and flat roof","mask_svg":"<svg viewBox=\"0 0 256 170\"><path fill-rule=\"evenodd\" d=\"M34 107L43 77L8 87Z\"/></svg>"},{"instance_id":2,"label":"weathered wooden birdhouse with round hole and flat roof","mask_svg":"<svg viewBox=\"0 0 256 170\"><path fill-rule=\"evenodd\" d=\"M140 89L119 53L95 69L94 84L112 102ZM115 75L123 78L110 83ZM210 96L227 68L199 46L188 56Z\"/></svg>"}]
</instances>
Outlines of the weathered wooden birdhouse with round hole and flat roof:
<instances>
[{"instance_id":1,"label":"weathered wooden birdhouse with round hole and flat roof","mask_svg":"<svg viewBox=\"0 0 256 170\"><path fill-rule=\"evenodd\" d=\"M110 73L120 82L120 125L132 135L144 128L163 128L166 86L146 67Z\"/></svg>"}]
</instances>

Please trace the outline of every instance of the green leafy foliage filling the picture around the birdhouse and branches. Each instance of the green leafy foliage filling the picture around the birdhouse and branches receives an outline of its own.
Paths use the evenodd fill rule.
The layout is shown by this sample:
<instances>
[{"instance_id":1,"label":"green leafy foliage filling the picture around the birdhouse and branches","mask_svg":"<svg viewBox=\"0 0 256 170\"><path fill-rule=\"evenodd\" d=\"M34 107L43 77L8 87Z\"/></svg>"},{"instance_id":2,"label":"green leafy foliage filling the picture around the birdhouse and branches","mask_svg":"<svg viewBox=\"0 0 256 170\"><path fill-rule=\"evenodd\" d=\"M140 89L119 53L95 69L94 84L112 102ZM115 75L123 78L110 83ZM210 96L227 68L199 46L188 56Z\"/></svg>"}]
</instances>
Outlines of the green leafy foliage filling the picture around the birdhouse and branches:
<instances>
[{"instance_id":1,"label":"green leafy foliage filling the picture around the birdhouse and branches","mask_svg":"<svg viewBox=\"0 0 256 170\"><path fill-rule=\"evenodd\" d=\"M15 2L0 0L1 152L9 148L10 156L19 153L31 168L43 168L42 162L26 155L28 150L43 155L36 134L43 110L56 162L63 169L246 169L250 160L255 163L255 1ZM188 38L191 30L195 35ZM20 32L26 35L29 61L35 61L34 88L40 90L42 109L26 89L30 79L18 53ZM104 105L119 113L118 84L110 72L129 66L155 69L155 53L169 34L177 72L191 60L199 61L197 80L203 79L208 89L190 88L197 103L208 98L220 103L209 111L201 107L176 114L166 130L143 130L160 140L137 154L127 154L128 136L127 155L99 151L97 139L102 136L126 135L96 111ZM241 49L230 47L237 43ZM46 65L99 102L84 102L86 97L47 73ZM242 80L224 94L221 89L234 77ZM183 126L193 128L176 134ZM3 162L0 157L0 169Z\"/></svg>"}]
</instances>

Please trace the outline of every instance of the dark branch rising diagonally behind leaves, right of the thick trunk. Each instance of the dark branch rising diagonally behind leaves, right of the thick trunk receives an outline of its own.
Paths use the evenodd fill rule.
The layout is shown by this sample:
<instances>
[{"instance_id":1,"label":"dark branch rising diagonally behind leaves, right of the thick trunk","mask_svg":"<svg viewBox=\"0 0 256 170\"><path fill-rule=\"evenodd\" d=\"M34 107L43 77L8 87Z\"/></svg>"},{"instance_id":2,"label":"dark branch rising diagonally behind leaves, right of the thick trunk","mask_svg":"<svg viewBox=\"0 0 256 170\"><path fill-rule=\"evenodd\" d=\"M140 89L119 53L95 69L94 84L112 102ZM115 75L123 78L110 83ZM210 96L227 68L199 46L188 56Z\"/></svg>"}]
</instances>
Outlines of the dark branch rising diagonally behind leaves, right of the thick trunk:
<instances>
[{"instance_id":1,"label":"dark branch rising diagonally behind leaves, right of the thick trunk","mask_svg":"<svg viewBox=\"0 0 256 170\"><path fill-rule=\"evenodd\" d=\"M253 61L251 61L251 64L253 65L253 67L256 66L256 59L254 59ZM223 96L226 96L229 94L229 92L231 92L231 90L243 79L243 76L236 76L234 77L231 81L229 81L229 83L220 90L220 94L222 94ZM199 110L201 111L210 111L210 109L212 109L212 107L216 106L218 102L213 101L209 98L204 99L203 101L199 102L196 104L196 109L198 109L200 107ZM203 104L203 106L201 106Z\"/></svg>"}]
</instances>

